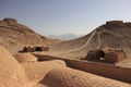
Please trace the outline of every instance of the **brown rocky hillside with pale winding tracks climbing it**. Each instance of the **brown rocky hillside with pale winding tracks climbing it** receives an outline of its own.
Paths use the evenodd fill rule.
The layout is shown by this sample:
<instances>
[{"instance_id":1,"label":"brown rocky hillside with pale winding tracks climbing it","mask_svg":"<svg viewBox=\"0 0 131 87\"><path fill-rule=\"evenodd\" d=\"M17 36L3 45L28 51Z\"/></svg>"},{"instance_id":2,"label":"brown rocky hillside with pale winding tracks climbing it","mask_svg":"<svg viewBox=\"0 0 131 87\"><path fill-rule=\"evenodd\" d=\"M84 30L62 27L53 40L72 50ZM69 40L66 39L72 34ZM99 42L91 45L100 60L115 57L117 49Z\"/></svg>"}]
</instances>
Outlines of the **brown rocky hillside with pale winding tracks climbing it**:
<instances>
[{"instance_id":1,"label":"brown rocky hillside with pale winding tracks climbing it","mask_svg":"<svg viewBox=\"0 0 131 87\"><path fill-rule=\"evenodd\" d=\"M63 47L63 48L62 48ZM123 49L128 54L131 53L131 23L122 21L109 21L97 27L92 33L79 39L63 41L53 47L59 51L73 50L78 53L87 53L92 49ZM70 51L71 52L71 51Z\"/></svg>"}]
</instances>

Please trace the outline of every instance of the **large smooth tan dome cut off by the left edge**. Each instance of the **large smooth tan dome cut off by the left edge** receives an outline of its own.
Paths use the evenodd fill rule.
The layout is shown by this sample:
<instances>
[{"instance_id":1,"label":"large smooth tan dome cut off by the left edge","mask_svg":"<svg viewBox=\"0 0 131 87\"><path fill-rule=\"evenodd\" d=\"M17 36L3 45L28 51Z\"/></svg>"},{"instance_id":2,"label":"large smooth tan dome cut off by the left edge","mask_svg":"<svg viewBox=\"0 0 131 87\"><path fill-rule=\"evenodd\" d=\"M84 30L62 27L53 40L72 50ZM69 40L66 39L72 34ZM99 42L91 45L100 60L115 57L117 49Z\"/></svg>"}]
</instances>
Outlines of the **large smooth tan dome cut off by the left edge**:
<instances>
[{"instance_id":1,"label":"large smooth tan dome cut off by the left edge","mask_svg":"<svg viewBox=\"0 0 131 87\"><path fill-rule=\"evenodd\" d=\"M26 84L22 66L0 46L0 87L24 87Z\"/></svg>"}]
</instances>

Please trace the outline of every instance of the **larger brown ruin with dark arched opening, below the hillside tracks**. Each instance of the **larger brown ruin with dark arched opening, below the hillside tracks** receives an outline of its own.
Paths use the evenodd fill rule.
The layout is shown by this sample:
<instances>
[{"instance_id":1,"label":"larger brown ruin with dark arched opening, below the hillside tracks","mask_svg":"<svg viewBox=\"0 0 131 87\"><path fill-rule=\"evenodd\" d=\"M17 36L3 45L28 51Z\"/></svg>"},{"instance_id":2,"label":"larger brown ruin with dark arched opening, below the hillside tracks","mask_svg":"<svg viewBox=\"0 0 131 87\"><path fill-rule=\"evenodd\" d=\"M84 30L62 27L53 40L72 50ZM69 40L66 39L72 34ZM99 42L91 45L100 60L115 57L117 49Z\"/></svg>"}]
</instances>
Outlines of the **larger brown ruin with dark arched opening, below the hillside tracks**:
<instances>
[{"instance_id":1,"label":"larger brown ruin with dark arched opening, below the hillside tracks","mask_svg":"<svg viewBox=\"0 0 131 87\"><path fill-rule=\"evenodd\" d=\"M84 60L116 63L124 59L126 52L123 50L90 50Z\"/></svg>"}]
</instances>

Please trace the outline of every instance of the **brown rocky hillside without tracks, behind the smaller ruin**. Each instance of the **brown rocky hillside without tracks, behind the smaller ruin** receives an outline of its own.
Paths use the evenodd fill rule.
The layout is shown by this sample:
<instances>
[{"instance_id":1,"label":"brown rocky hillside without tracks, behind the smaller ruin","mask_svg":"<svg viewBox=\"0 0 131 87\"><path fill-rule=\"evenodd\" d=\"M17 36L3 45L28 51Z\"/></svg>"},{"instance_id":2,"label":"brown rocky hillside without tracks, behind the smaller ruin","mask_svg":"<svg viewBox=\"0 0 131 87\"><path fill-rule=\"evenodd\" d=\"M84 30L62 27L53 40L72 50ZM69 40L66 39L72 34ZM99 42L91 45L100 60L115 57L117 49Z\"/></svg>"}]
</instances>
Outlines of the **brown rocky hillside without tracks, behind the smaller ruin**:
<instances>
[{"instance_id":1,"label":"brown rocky hillside without tracks, behind the smaller ruin","mask_svg":"<svg viewBox=\"0 0 131 87\"><path fill-rule=\"evenodd\" d=\"M24 46L49 45L55 41L35 33L25 25L19 24L14 18L0 21L0 45L12 53L17 52Z\"/></svg>"}]
</instances>

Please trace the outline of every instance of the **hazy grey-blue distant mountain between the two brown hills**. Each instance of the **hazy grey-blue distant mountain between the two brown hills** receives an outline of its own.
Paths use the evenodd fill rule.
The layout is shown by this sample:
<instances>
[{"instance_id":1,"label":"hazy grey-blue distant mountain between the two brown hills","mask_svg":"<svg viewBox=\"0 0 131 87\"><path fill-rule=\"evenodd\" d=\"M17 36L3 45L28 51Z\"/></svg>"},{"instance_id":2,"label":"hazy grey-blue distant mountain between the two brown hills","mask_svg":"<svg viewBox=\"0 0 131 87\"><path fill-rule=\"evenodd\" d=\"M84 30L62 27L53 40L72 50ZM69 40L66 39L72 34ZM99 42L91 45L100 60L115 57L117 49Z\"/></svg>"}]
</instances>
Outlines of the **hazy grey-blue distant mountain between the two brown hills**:
<instances>
[{"instance_id":1,"label":"hazy grey-blue distant mountain between the two brown hills","mask_svg":"<svg viewBox=\"0 0 131 87\"><path fill-rule=\"evenodd\" d=\"M49 35L48 37L61 40L71 40L81 37L82 35L74 35L74 34L63 34L63 35Z\"/></svg>"}]
</instances>

